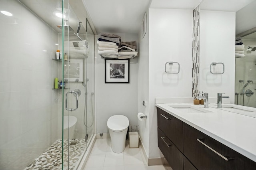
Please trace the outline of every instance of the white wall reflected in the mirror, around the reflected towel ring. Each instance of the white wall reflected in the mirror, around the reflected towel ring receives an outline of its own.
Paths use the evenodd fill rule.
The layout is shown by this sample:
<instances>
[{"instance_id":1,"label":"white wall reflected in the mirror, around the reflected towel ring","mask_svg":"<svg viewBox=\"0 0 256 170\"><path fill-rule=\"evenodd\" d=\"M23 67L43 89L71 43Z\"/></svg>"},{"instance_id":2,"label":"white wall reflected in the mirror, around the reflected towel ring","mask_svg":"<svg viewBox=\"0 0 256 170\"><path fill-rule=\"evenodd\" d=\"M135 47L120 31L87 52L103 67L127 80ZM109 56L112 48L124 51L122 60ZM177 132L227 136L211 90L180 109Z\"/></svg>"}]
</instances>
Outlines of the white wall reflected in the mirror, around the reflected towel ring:
<instances>
[{"instance_id":1,"label":"white wall reflected in the mirror, around the reflected towel ring","mask_svg":"<svg viewBox=\"0 0 256 170\"><path fill-rule=\"evenodd\" d=\"M235 17L235 12L200 11L199 89L209 93L209 97L225 93L231 103L234 103ZM212 62L224 63L224 74L211 74ZM222 67L217 71L221 72Z\"/></svg>"}]
</instances>

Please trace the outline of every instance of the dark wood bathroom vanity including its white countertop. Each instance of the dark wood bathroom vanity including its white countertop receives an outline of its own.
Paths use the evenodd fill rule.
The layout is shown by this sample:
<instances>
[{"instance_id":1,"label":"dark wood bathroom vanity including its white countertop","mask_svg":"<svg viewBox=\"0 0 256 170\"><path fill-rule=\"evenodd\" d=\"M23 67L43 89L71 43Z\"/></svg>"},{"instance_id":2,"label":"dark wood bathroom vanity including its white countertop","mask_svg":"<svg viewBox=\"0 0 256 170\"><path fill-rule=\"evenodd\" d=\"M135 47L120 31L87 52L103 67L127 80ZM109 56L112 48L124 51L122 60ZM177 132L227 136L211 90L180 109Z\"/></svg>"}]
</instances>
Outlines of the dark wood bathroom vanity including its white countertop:
<instances>
[{"instance_id":1,"label":"dark wood bathroom vanity including its white countertop","mask_svg":"<svg viewBox=\"0 0 256 170\"><path fill-rule=\"evenodd\" d=\"M256 115L256 109L189 103L156 107L158 147L173 170L255 170L256 118L242 113Z\"/></svg>"}]
</instances>

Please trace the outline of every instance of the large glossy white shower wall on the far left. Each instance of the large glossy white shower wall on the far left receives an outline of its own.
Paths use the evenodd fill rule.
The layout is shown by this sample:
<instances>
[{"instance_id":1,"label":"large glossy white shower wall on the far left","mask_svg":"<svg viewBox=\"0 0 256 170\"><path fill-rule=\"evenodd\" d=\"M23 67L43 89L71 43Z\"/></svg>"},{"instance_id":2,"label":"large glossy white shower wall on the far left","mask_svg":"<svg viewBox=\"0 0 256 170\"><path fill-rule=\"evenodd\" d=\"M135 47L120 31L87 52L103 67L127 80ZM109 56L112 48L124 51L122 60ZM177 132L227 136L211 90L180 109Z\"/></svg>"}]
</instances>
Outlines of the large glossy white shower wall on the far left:
<instances>
[{"instance_id":1,"label":"large glossy white shower wall on the far left","mask_svg":"<svg viewBox=\"0 0 256 170\"><path fill-rule=\"evenodd\" d=\"M23 169L57 139L58 35L18 1L1 10L0 169Z\"/></svg>"}]
</instances>

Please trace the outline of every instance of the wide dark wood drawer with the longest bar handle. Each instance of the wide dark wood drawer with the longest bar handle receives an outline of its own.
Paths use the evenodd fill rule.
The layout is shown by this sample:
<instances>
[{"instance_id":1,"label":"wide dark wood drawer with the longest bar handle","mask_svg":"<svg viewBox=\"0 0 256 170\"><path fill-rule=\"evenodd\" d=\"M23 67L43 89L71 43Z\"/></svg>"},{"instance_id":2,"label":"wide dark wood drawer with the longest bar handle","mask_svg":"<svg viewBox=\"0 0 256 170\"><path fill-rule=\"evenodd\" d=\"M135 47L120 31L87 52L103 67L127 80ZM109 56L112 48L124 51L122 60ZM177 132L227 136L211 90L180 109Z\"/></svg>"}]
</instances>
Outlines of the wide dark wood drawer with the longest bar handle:
<instances>
[{"instance_id":1,"label":"wide dark wood drawer with the longest bar handle","mask_svg":"<svg viewBox=\"0 0 256 170\"><path fill-rule=\"evenodd\" d=\"M184 155L198 170L255 170L256 162L183 123Z\"/></svg>"}]
</instances>

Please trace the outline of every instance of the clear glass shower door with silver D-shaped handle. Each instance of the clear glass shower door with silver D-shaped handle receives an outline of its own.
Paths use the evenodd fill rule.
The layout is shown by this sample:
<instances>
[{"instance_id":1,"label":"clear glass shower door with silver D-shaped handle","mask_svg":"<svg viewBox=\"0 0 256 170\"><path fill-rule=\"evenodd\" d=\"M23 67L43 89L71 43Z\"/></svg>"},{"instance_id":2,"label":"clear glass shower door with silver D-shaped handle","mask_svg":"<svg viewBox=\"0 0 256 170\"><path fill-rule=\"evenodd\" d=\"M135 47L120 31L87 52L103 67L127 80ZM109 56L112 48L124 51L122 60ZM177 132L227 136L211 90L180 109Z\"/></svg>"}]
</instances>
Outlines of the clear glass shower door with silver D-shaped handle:
<instances>
[{"instance_id":1,"label":"clear glass shower door with silver D-shaped handle","mask_svg":"<svg viewBox=\"0 0 256 170\"><path fill-rule=\"evenodd\" d=\"M87 148L86 30L69 5L64 21L68 29L63 37L63 164L64 169L76 169Z\"/></svg>"}]
</instances>

